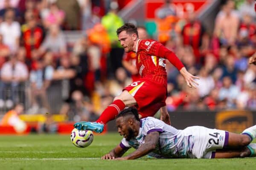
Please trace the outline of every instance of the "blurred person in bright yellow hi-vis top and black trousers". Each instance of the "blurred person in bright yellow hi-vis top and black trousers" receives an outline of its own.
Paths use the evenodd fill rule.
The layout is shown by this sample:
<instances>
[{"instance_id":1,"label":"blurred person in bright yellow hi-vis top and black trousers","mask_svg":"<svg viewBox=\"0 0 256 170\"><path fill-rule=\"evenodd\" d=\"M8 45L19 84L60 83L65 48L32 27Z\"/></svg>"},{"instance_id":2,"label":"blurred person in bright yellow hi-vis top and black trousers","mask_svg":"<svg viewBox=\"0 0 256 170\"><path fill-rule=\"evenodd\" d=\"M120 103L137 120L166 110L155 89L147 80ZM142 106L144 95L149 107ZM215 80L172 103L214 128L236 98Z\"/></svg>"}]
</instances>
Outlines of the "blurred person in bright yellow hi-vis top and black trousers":
<instances>
[{"instance_id":1,"label":"blurred person in bright yellow hi-vis top and black trousers","mask_svg":"<svg viewBox=\"0 0 256 170\"><path fill-rule=\"evenodd\" d=\"M102 25L108 32L108 37L111 42L111 51L110 51L110 63L111 63L111 72L112 76L116 72L116 69L122 67L122 56L124 50L118 42L118 37L116 37L116 29L123 25L123 20L118 16L118 3L112 1L110 4L111 10L102 17Z\"/></svg>"}]
</instances>

